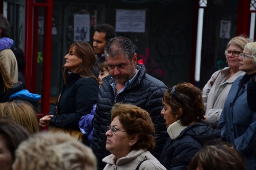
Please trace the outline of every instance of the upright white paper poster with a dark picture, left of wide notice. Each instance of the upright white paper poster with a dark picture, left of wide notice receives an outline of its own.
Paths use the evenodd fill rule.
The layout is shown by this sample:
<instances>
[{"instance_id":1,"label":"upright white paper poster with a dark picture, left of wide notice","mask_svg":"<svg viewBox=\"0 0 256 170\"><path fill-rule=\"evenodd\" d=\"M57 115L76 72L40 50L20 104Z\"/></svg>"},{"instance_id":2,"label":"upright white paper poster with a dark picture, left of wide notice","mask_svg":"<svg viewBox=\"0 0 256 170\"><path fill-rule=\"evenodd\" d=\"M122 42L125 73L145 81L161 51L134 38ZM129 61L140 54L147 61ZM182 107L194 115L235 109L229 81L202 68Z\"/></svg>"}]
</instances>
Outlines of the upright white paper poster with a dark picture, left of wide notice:
<instances>
[{"instance_id":1,"label":"upright white paper poster with a dark picture, left of wide notice","mask_svg":"<svg viewBox=\"0 0 256 170\"><path fill-rule=\"evenodd\" d=\"M90 41L90 15L74 15L74 41Z\"/></svg>"}]
</instances>

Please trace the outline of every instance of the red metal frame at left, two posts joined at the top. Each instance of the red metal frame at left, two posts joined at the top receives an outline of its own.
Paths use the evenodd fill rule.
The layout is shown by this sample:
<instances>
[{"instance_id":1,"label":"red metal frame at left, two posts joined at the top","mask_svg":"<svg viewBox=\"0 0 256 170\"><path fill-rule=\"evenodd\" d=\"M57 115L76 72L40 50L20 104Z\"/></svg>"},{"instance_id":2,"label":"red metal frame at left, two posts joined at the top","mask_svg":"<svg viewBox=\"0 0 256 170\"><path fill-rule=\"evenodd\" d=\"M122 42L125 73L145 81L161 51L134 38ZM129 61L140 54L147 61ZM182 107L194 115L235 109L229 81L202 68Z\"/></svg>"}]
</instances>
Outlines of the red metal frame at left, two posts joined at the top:
<instances>
[{"instance_id":1,"label":"red metal frame at left, two posts joined at the top","mask_svg":"<svg viewBox=\"0 0 256 170\"><path fill-rule=\"evenodd\" d=\"M43 79L41 112L49 112L51 57L52 57L52 18L53 0L35 3L26 0L25 14L25 56L26 56L26 84L27 90L36 93L37 89L37 45L38 45L38 8L44 7L44 35L43 35Z\"/></svg>"}]
</instances>

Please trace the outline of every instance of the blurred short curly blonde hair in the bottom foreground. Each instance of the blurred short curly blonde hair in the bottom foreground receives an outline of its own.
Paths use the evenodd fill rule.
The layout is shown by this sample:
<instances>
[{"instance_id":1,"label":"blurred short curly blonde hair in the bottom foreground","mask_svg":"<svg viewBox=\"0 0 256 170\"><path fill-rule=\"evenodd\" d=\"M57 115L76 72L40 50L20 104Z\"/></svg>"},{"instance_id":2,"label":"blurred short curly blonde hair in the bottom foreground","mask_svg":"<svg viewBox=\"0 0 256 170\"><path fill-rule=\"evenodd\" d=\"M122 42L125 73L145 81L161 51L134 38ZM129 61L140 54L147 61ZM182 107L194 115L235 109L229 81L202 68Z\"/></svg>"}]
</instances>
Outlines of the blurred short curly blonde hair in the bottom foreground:
<instances>
[{"instance_id":1,"label":"blurred short curly blonde hair in the bottom foreground","mask_svg":"<svg viewBox=\"0 0 256 170\"><path fill-rule=\"evenodd\" d=\"M21 143L13 170L96 170L86 145L64 133L41 132Z\"/></svg>"}]
</instances>

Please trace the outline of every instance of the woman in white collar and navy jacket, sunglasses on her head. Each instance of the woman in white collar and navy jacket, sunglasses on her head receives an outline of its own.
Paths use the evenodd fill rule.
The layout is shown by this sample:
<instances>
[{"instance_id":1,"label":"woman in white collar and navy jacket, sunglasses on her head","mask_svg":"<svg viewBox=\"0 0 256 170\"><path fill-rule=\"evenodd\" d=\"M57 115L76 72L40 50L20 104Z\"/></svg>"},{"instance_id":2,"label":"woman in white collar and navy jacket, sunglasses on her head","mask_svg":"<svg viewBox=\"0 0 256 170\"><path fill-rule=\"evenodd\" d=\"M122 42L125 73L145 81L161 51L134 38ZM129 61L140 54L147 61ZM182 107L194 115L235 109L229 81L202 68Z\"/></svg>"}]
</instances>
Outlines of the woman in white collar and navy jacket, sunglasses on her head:
<instances>
[{"instance_id":1,"label":"woman in white collar and navy jacket, sunglasses on her head","mask_svg":"<svg viewBox=\"0 0 256 170\"><path fill-rule=\"evenodd\" d=\"M181 83L166 90L163 105L161 115L170 138L159 161L168 170L187 170L197 151L207 142L217 142L220 132L202 121L202 92L190 83Z\"/></svg>"}]
</instances>

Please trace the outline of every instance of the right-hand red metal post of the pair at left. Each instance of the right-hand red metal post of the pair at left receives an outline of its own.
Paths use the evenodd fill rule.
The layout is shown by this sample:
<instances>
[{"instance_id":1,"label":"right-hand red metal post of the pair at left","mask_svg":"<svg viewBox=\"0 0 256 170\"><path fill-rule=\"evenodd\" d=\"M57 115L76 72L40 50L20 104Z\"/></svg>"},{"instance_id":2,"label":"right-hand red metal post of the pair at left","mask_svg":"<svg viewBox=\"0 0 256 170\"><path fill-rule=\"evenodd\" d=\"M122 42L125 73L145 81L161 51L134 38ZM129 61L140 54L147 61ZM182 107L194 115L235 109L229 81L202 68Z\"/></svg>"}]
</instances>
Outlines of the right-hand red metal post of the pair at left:
<instances>
[{"instance_id":1,"label":"right-hand red metal post of the pair at left","mask_svg":"<svg viewBox=\"0 0 256 170\"><path fill-rule=\"evenodd\" d=\"M44 11L44 39L43 39L43 81L41 111L44 115L49 112L50 85L51 85L51 57L52 57L52 23L53 0L46 0L48 6Z\"/></svg>"}]
</instances>

